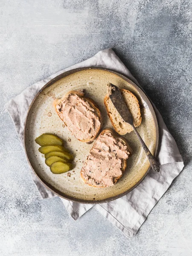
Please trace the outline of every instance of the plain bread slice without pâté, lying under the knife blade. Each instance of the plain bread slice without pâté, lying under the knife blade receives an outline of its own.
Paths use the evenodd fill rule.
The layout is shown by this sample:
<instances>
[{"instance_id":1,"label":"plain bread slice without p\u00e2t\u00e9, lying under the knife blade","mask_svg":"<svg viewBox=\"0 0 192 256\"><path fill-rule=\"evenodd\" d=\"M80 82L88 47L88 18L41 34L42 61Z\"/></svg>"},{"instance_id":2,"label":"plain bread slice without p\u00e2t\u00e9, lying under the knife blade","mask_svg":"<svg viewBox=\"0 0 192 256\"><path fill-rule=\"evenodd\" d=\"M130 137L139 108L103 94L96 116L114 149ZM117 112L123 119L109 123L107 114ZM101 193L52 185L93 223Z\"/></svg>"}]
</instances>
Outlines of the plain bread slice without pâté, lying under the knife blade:
<instances>
[{"instance_id":1,"label":"plain bread slice without p\u00e2t\u00e9, lying under the knife blade","mask_svg":"<svg viewBox=\"0 0 192 256\"><path fill-rule=\"evenodd\" d=\"M141 124L141 112L140 112L140 105L137 98L128 90L120 89L122 97L132 115L134 126L137 127ZM110 97L108 95L105 96L104 99L105 108L107 110L108 116L111 120L111 123L115 129L115 131L120 134L124 135L131 131L133 128L130 124L125 123L122 117L119 115L118 111L114 107Z\"/></svg>"}]
</instances>

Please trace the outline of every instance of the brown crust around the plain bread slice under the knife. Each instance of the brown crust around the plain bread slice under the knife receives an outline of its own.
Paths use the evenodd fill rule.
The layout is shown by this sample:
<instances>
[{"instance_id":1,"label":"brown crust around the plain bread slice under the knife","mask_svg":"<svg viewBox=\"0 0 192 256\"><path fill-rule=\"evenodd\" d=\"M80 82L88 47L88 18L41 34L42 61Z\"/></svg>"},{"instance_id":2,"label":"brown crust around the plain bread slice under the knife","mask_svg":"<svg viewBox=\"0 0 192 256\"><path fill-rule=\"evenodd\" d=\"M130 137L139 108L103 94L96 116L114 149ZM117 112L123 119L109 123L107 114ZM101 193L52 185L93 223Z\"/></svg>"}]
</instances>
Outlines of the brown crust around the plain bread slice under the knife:
<instances>
[{"instance_id":1,"label":"brown crust around the plain bread slice under the knife","mask_svg":"<svg viewBox=\"0 0 192 256\"><path fill-rule=\"evenodd\" d=\"M124 97L124 95L123 95L123 92L127 92L127 93L130 93L131 94L131 96L135 99L135 103L137 104L137 107L138 107L138 116L140 116L140 118L138 119L138 123L137 123L137 125L135 125L136 127L138 127L140 124L141 124L141 121L142 121L142 117L141 117L141 111L140 111L140 105L139 105L139 102L138 102L138 99L137 99L137 97L136 96L134 96L134 94L133 93L131 93L129 90L126 90L126 89L119 89L120 90L120 92L122 93L122 97ZM108 106L108 94L105 96L105 98L104 98L104 104L105 104L105 108L106 108L106 111L107 111L107 113L108 113L108 116L109 116L109 119L111 120L111 124L113 125L113 128L115 129L115 131L118 133L118 134L120 134L120 135L124 135L124 134L126 134L126 133L119 133L119 131L117 130L117 128L116 128L116 124L115 124L115 122L113 122L113 113L111 113L110 112L110 109L109 109L109 106ZM125 102L125 104L126 104L126 102ZM127 104L126 104L127 105ZM129 127L129 129L128 129L128 133L129 132L131 132L131 131L133 131L133 128L131 127L131 125L130 125L130 127Z\"/></svg>"}]
</instances>

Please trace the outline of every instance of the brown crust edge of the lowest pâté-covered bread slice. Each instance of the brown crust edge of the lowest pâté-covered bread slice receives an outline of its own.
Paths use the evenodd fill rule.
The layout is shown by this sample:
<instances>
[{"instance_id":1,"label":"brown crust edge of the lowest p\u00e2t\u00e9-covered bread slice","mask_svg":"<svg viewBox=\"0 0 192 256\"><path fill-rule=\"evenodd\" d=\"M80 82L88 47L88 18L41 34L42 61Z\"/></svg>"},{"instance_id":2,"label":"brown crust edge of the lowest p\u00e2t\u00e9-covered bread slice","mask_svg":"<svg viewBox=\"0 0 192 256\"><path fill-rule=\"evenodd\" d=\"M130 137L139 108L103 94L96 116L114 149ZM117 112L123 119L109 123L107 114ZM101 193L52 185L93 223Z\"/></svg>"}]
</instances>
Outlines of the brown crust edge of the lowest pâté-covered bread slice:
<instances>
[{"instance_id":1,"label":"brown crust edge of the lowest p\u00e2t\u00e9-covered bread slice","mask_svg":"<svg viewBox=\"0 0 192 256\"><path fill-rule=\"evenodd\" d=\"M108 132L108 131L111 132L111 134L113 135L113 137L118 138L118 139L122 140L123 143L125 143L125 145L126 145L127 148L128 148L129 157L131 157L131 155L132 155L132 149L131 149L130 145L128 144L127 140L125 140L125 139L122 138L121 136L117 135L116 132L113 131L111 128L106 128L106 129L104 129L99 135L105 134L105 132ZM96 142L95 142L95 143L96 143ZM95 143L93 144L93 147L94 147ZM92 148L93 148L93 147L92 147ZM87 156L87 159L88 159L88 156ZM87 161L87 160L86 160L86 161ZM124 160L123 160L123 165L122 165L122 175L123 175L123 173L124 173L126 167L127 167L127 159L124 159ZM86 183L86 179L84 178L84 176L83 176L83 174L82 174L82 169L81 169L80 175L81 175L81 178L82 178L82 180L84 181L84 183ZM116 177L116 178L113 180L114 185L115 185L116 182L122 177L122 175ZM86 183L86 184L87 184L87 183ZM87 185L92 186L92 187L94 187L94 188L106 188L106 187L108 187L108 186L94 186L94 185L92 185L92 184L87 184Z\"/></svg>"}]
</instances>

